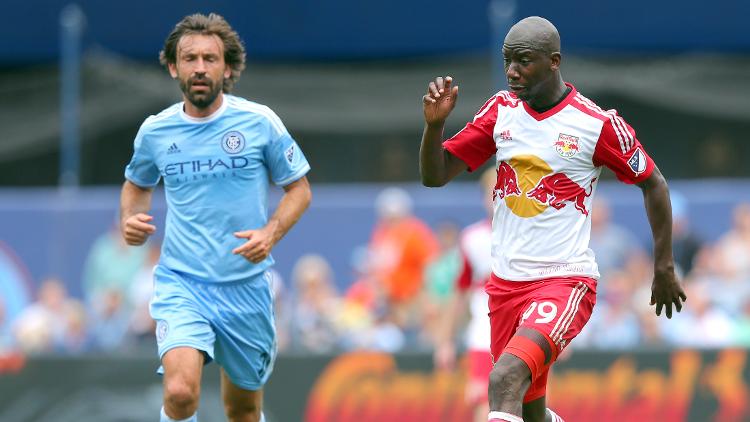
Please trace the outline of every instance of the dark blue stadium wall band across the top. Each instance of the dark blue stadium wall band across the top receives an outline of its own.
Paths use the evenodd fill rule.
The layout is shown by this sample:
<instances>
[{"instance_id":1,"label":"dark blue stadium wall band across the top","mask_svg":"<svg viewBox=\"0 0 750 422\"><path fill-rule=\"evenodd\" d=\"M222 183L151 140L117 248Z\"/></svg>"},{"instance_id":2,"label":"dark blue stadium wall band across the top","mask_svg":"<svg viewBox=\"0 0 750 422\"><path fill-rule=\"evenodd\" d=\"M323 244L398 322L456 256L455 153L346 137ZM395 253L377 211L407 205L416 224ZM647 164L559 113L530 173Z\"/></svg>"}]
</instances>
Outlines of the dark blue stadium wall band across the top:
<instances>
[{"instance_id":1,"label":"dark blue stadium wall band across the top","mask_svg":"<svg viewBox=\"0 0 750 422\"><path fill-rule=\"evenodd\" d=\"M54 60L59 13L68 0L3 2L0 63ZM215 11L246 40L254 59L364 59L487 52L498 42L489 0L283 0L78 2L87 45L155 60L181 17ZM517 5L513 6L514 3ZM521 2L495 0L515 17L541 15L560 29L566 51L750 51L750 2ZM498 22L498 19L494 19Z\"/></svg>"}]
</instances>

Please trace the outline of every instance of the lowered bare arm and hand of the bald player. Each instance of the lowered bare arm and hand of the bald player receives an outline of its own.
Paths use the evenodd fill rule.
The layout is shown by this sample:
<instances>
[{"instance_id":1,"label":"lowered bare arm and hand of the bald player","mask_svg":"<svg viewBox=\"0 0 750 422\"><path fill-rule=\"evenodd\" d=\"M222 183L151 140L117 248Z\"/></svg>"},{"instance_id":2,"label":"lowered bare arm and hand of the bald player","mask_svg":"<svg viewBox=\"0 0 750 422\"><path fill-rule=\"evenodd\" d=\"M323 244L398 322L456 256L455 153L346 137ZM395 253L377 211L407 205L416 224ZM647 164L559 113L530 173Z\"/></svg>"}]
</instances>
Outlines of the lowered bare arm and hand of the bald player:
<instances>
[{"instance_id":1,"label":"lowered bare arm and hand of the bald player","mask_svg":"<svg viewBox=\"0 0 750 422\"><path fill-rule=\"evenodd\" d=\"M672 206L669 201L667 181L655 167L651 176L641 182L643 202L654 238L654 281L651 285L651 305L656 305L656 315L665 309L667 318L672 318L672 305L677 312L687 300L685 292L674 272L672 257Z\"/></svg>"}]
</instances>

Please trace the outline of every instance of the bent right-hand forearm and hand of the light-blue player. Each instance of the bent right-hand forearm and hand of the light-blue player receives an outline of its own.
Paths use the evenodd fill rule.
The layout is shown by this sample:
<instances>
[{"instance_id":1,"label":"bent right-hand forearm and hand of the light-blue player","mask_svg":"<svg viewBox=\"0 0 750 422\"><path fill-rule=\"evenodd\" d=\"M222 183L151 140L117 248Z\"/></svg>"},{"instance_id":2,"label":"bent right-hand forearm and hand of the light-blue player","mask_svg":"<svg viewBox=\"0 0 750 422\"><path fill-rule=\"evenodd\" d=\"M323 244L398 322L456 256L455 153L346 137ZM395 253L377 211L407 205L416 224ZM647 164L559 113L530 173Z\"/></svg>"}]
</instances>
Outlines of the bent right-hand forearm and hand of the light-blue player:
<instances>
[{"instance_id":1,"label":"bent right-hand forearm and hand of the light-blue player","mask_svg":"<svg viewBox=\"0 0 750 422\"><path fill-rule=\"evenodd\" d=\"M263 261L271 253L273 246L302 217L312 200L312 191L307 177L284 186L284 196L268 223L257 230L236 232L238 238L247 239L241 246L232 250L235 255L242 255L255 264Z\"/></svg>"}]
</instances>

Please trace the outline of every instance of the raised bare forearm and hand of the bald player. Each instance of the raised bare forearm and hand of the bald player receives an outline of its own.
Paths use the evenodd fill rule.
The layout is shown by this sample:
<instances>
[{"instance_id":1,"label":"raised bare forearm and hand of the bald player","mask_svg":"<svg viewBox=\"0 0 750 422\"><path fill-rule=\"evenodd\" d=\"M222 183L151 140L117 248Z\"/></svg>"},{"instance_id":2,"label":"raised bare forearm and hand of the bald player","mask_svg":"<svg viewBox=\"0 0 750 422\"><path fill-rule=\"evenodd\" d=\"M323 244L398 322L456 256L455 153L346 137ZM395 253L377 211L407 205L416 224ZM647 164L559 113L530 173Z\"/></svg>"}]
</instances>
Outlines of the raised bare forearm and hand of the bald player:
<instances>
[{"instance_id":1,"label":"raised bare forearm and hand of the bald player","mask_svg":"<svg viewBox=\"0 0 750 422\"><path fill-rule=\"evenodd\" d=\"M435 78L422 97L425 126L419 150L419 173L425 186L443 186L466 169L463 161L443 148L445 120L456 106L457 98L458 86L453 86L450 76Z\"/></svg>"}]
</instances>

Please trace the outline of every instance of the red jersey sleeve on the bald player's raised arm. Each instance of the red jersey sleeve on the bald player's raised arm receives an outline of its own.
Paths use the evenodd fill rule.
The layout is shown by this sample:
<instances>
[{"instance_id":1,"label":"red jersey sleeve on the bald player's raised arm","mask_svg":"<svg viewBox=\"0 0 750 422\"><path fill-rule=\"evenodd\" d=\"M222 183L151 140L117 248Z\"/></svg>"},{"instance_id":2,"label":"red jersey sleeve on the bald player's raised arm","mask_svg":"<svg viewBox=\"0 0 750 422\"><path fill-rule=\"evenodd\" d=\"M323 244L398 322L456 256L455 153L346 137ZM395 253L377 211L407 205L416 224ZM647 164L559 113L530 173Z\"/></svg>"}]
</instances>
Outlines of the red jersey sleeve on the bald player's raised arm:
<instances>
[{"instance_id":1,"label":"red jersey sleeve on the bald player's raised arm","mask_svg":"<svg viewBox=\"0 0 750 422\"><path fill-rule=\"evenodd\" d=\"M443 148L474 171L492 157L497 148L492 133L497 121L497 96L490 98L457 134L443 142Z\"/></svg>"}]
</instances>

